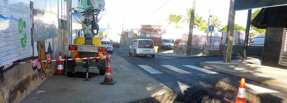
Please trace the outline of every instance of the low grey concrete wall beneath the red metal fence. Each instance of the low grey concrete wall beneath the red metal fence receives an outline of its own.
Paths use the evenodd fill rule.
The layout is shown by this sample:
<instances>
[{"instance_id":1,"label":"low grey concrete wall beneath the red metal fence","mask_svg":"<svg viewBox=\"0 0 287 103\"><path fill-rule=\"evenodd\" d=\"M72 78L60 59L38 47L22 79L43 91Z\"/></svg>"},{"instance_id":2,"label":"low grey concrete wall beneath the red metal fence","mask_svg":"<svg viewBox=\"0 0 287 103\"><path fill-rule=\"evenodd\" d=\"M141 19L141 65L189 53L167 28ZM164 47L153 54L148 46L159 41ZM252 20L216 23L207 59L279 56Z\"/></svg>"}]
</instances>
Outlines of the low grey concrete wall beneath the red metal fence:
<instances>
[{"instance_id":1,"label":"low grey concrete wall beneath the red metal fence","mask_svg":"<svg viewBox=\"0 0 287 103\"><path fill-rule=\"evenodd\" d=\"M174 54L186 54L185 46L182 49L174 48ZM199 49L199 48L191 48L192 55L215 55L215 56L223 56L225 45L222 45L219 50L209 50L209 49ZM247 47L247 55L262 55L262 46L248 46ZM233 45L232 47L232 56L241 56L243 55L243 45Z\"/></svg>"}]
</instances>

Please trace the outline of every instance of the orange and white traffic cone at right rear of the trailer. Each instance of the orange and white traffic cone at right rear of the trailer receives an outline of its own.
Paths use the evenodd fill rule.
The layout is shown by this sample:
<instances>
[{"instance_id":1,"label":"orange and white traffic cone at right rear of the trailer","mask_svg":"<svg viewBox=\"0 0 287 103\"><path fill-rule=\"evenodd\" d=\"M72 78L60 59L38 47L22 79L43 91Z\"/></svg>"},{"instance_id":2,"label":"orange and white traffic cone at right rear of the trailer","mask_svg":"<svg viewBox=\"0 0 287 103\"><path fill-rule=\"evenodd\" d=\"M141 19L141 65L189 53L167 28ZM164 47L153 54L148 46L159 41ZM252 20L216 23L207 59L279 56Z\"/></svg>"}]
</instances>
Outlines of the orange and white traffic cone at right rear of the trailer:
<instances>
[{"instance_id":1,"label":"orange and white traffic cone at right rear of the trailer","mask_svg":"<svg viewBox=\"0 0 287 103\"><path fill-rule=\"evenodd\" d=\"M107 66L106 66L105 80L103 82L101 82L100 84L114 85L116 83L117 82L113 81L113 77L112 77L111 59L110 59L110 56L107 56Z\"/></svg>"}]
</instances>

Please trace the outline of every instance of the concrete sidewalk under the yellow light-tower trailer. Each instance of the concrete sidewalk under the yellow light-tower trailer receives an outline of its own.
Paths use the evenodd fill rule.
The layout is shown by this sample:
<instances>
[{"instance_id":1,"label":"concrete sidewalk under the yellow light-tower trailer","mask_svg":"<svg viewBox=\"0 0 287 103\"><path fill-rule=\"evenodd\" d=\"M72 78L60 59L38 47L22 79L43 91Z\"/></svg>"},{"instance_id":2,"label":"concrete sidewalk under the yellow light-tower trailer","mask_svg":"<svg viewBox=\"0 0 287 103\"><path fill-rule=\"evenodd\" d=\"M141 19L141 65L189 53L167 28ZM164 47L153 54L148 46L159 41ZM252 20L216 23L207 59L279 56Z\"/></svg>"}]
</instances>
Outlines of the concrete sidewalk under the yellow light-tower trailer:
<instances>
[{"instance_id":1,"label":"concrete sidewalk under the yellow light-tower trailer","mask_svg":"<svg viewBox=\"0 0 287 103\"><path fill-rule=\"evenodd\" d=\"M90 78L69 78L66 75L53 75L32 92L21 103L125 103L163 99L173 91L142 73L139 68L130 64L121 56L112 55L112 74L115 85L100 85L103 75ZM84 72L85 69L76 71ZM98 73L98 69L90 72ZM34 91L35 91L34 90Z\"/></svg>"}]
</instances>

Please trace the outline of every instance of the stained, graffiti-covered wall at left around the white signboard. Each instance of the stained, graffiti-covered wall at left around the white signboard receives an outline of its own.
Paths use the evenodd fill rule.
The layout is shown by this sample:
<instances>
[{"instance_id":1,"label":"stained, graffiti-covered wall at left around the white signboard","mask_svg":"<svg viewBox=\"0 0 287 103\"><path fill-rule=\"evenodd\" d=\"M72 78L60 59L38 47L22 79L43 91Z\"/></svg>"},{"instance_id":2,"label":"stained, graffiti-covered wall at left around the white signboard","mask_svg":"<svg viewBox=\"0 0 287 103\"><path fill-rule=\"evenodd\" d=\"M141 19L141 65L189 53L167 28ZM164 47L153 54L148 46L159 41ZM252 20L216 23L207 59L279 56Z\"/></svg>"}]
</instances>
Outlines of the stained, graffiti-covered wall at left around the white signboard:
<instances>
[{"instance_id":1,"label":"stained, graffiti-covered wall at left around the white signboard","mask_svg":"<svg viewBox=\"0 0 287 103\"><path fill-rule=\"evenodd\" d=\"M19 59L15 62L58 59L59 50L67 51L66 47L70 43L70 34L67 31L70 28L69 15L65 23L59 22L65 20L59 19L59 16L56 15L58 14L58 0L33 1L34 6L30 6L33 7L31 10L34 9L34 12L31 11L33 13L31 14L33 15L31 16L33 17L31 18L33 21L31 34L33 36L31 36L32 41L30 42L33 56ZM33 38L36 35L41 37L41 40L34 41ZM56 37L51 37L50 35L56 35ZM0 67L0 103L17 103L55 73L57 62L24 63L5 66L7 68L4 68L4 66Z\"/></svg>"}]
</instances>

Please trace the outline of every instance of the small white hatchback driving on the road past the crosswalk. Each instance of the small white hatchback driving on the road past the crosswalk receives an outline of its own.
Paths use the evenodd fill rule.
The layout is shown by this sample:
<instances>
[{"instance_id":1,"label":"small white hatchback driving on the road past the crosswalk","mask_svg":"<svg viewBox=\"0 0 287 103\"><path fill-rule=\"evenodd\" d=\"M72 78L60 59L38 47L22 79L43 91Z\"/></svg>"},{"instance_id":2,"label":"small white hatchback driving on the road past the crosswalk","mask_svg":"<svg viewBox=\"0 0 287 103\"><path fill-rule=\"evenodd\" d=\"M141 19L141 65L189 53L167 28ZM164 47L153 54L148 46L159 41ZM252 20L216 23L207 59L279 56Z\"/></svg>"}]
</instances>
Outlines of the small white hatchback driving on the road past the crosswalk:
<instances>
[{"instance_id":1,"label":"small white hatchback driving on the road past the crosswalk","mask_svg":"<svg viewBox=\"0 0 287 103\"><path fill-rule=\"evenodd\" d=\"M129 46L129 55L151 55L154 58L156 49L154 48L153 40L150 39L135 39Z\"/></svg>"}]
</instances>

